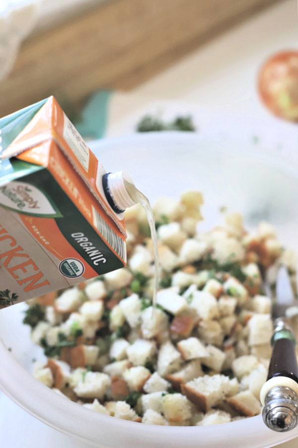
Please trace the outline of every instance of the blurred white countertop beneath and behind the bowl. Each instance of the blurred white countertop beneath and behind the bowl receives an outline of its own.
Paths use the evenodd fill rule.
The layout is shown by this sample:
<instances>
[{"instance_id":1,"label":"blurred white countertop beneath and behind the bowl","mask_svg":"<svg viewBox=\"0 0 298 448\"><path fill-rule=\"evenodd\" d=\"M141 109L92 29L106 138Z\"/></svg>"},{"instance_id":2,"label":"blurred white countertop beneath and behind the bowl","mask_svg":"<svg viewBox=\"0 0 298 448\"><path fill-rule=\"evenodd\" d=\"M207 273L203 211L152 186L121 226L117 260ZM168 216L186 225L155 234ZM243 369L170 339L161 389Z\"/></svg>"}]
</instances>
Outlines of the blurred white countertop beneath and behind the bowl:
<instances>
[{"instance_id":1,"label":"blurred white countertop beneath and behind the bowl","mask_svg":"<svg viewBox=\"0 0 298 448\"><path fill-rule=\"evenodd\" d=\"M108 135L132 132L146 112L161 108L165 116L170 116L189 111L201 132L237 133L242 138L257 135L274 150L295 156L296 125L279 120L264 109L256 94L255 78L261 63L272 53L297 48L297 35L297 1L277 4L214 39L134 92L116 93L111 101ZM297 444L296 439L278 447L296 448ZM0 447L87 445L37 421L0 393Z\"/></svg>"}]
</instances>

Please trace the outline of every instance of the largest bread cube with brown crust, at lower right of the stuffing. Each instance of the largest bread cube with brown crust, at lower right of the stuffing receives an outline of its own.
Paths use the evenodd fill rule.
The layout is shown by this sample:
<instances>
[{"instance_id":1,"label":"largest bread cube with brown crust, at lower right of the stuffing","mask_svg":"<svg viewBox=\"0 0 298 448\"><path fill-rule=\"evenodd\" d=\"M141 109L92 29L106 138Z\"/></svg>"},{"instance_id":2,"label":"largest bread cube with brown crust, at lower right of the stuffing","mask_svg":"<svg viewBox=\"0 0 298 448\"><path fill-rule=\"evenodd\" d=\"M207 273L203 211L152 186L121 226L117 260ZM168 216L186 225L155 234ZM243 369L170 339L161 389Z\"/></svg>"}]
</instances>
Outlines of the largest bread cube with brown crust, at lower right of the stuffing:
<instances>
[{"instance_id":1,"label":"largest bread cube with brown crust, at lower right of the stuffing","mask_svg":"<svg viewBox=\"0 0 298 448\"><path fill-rule=\"evenodd\" d=\"M181 386L183 394L205 413L228 396L233 388L234 382L220 374L204 375Z\"/></svg>"}]
</instances>

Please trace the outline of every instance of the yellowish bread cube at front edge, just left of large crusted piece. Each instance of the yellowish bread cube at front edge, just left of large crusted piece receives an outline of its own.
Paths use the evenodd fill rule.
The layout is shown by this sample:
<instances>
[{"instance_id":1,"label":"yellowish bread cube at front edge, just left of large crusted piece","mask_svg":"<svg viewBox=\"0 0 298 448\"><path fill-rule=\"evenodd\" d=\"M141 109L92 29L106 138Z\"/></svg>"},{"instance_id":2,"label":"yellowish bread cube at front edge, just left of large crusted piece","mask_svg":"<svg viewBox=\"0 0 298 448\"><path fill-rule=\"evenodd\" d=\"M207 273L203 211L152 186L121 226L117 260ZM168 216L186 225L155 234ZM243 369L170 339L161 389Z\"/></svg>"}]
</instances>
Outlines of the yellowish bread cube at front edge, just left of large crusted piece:
<instances>
[{"instance_id":1,"label":"yellowish bread cube at front edge, just left of large crusted piece","mask_svg":"<svg viewBox=\"0 0 298 448\"><path fill-rule=\"evenodd\" d=\"M184 395L166 394L161 402L162 413L168 422L182 422L191 418L190 403Z\"/></svg>"}]
</instances>

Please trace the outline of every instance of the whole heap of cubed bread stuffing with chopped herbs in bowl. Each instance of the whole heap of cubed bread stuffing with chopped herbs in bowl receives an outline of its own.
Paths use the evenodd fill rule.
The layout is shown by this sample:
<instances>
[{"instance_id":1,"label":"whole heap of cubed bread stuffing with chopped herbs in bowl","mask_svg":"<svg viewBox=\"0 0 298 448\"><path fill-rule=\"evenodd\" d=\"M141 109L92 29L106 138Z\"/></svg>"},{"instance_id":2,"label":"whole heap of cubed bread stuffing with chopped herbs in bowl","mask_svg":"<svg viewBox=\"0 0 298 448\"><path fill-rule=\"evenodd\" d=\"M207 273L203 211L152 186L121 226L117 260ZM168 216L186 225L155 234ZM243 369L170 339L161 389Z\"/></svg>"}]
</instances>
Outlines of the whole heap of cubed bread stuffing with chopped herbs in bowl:
<instances>
[{"instance_id":1,"label":"whole heap of cubed bread stuffing with chopped herbs in bowl","mask_svg":"<svg viewBox=\"0 0 298 448\"><path fill-rule=\"evenodd\" d=\"M155 308L141 205L126 213L125 268L28 302L24 324L46 358L34 363L35 378L90 411L135 423L209 426L260 413L273 333L262 278L274 289L283 265L297 290L297 255L271 224L248 231L236 212L202 230L202 203L188 191L154 206Z\"/></svg>"}]
</instances>

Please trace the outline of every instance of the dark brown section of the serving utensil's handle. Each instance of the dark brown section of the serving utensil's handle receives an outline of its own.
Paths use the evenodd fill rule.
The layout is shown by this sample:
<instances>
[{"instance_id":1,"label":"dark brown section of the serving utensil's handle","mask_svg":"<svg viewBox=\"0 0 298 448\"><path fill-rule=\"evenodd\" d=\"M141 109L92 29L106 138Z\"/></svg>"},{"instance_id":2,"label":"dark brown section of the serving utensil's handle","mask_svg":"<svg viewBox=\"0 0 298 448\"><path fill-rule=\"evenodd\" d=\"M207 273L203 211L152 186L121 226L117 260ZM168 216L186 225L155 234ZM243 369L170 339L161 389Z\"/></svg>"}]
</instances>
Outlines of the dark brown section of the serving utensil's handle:
<instances>
[{"instance_id":1,"label":"dark brown section of the serving utensil's handle","mask_svg":"<svg viewBox=\"0 0 298 448\"><path fill-rule=\"evenodd\" d=\"M298 383L298 365L294 343L286 337L274 342L267 381L276 376L287 376Z\"/></svg>"}]
</instances>

